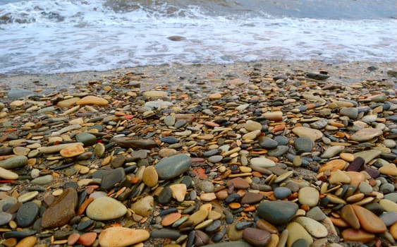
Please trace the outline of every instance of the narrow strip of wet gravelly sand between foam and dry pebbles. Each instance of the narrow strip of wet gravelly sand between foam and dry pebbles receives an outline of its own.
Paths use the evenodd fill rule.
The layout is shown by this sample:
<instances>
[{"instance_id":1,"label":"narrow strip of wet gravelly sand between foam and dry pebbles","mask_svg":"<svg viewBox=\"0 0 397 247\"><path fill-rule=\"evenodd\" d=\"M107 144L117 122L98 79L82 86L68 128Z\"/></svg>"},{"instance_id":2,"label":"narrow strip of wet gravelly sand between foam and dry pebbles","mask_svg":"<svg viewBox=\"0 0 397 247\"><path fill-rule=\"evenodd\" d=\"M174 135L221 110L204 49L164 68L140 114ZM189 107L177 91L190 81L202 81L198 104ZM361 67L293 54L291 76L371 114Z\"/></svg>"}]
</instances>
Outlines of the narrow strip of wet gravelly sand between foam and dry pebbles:
<instances>
[{"instance_id":1,"label":"narrow strip of wet gravelly sand between foam and dry pebbles","mask_svg":"<svg viewBox=\"0 0 397 247\"><path fill-rule=\"evenodd\" d=\"M146 73L149 76L159 78L154 83L163 85L164 83L186 83L181 77L195 78L196 76L200 76L202 80L210 79L206 75L203 75L203 73L213 73L219 79L227 73L233 73L233 71L238 73L239 76L242 76L244 71L248 71L255 66L269 73L273 73L274 71L278 71L279 73L326 71L331 76L331 80L334 80L336 83L357 83L371 78L387 80L391 78L391 76L388 76L387 71L397 71L397 63L368 61L341 62L337 64L317 60L254 61L236 62L233 64L166 64L160 66L117 68L108 71L24 74L16 76L2 75L0 76L0 87L2 91L18 88L35 90L37 93L48 93L51 90L65 90L73 88L73 86L84 85L89 81L106 81L121 76L124 73ZM371 66L374 66L373 70L368 69ZM148 83L147 86L150 87L150 82Z\"/></svg>"}]
</instances>

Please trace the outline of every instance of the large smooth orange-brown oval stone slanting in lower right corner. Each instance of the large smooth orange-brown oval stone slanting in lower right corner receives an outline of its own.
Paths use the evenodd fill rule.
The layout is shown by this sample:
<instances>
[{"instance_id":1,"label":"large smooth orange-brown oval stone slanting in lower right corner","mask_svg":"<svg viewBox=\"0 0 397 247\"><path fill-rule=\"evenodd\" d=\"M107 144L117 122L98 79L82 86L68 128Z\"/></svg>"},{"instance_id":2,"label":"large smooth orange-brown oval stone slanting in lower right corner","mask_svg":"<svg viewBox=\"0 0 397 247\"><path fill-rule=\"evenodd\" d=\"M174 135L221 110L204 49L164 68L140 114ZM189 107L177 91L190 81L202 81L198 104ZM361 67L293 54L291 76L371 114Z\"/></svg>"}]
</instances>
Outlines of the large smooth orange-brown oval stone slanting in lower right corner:
<instances>
[{"instance_id":1,"label":"large smooth orange-brown oval stone slanting in lower right corner","mask_svg":"<svg viewBox=\"0 0 397 247\"><path fill-rule=\"evenodd\" d=\"M360 222L360 226L367 232L380 234L387 230L384 222L377 217L373 212L367 210L365 207L361 207L359 205L351 205L355 212L355 215L358 217L358 221Z\"/></svg>"}]
</instances>

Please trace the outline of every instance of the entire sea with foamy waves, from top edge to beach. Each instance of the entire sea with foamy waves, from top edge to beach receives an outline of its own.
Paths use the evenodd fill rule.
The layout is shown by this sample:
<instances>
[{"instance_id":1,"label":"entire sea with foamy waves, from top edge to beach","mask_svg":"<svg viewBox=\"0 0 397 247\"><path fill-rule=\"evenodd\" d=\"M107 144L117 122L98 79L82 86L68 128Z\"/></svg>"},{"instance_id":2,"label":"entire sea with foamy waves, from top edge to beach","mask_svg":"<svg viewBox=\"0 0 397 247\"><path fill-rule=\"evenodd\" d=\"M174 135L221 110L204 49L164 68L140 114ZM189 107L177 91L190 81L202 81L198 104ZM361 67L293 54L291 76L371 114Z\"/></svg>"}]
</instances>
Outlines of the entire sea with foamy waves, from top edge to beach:
<instances>
[{"instance_id":1,"label":"entire sea with foamy waves, from top edge to beach","mask_svg":"<svg viewBox=\"0 0 397 247\"><path fill-rule=\"evenodd\" d=\"M0 74L397 61L395 0L0 0Z\"/></svg>"}]
</instances>

